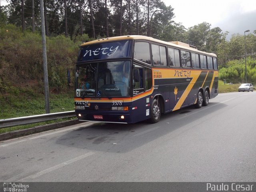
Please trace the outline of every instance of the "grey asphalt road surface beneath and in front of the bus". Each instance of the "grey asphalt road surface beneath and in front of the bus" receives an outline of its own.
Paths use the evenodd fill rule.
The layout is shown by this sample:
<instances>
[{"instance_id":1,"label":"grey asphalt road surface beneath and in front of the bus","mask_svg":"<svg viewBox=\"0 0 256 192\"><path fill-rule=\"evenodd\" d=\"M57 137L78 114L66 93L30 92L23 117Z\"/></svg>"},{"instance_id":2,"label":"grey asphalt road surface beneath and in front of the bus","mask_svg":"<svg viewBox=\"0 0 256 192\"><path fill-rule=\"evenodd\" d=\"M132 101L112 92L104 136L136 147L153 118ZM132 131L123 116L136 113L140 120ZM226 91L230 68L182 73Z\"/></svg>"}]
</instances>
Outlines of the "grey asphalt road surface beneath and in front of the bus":
<instances>
[{"instance_id":1,"label":"grey asphalt road surface beneath and in front of the bus","mask_svg":"<svg viewBox=\"0 0 256 192\"><path fill-rule=\"evenodd\" d=\"M0 143L1 182L255 182L256 92L150 124L86 122Z\"/></svg>"}]
</instances>

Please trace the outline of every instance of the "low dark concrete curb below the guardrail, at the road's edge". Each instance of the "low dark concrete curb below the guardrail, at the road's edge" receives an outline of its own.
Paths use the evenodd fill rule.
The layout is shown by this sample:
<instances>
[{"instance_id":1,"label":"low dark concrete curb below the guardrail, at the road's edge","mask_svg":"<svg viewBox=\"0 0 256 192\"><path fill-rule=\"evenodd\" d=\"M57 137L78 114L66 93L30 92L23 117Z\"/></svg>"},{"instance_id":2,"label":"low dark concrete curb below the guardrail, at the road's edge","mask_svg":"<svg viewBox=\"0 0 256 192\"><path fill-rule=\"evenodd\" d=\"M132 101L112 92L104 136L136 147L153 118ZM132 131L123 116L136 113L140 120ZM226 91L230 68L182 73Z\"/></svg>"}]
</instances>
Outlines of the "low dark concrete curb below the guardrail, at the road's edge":
<instances>
[{"instance_id":1,"label":"low dark concrete curb below the guardrail, at the road's edge","mask_svg":"<svg viewBox=\"0 0 256 192\"><path fill-rule=\"evenodd\" d=\"M28 129L21 129L21 130L16 130L16 131L12 131L12 132L1 133L0 141L16 138L19 136L30 135L30 134L34 134L34 133L38 133L38 132L43 132L43 131L47 131L47 130L57 129L57 128L61 128L61 127L69 126L69 125L78 124L78 123L82 123L82 122L78 121L78 119L75 119L75 120L70 120L70 121L65 121L65 122L40 125L40 126L28 128Z\"/></svg>"}]
</instances>

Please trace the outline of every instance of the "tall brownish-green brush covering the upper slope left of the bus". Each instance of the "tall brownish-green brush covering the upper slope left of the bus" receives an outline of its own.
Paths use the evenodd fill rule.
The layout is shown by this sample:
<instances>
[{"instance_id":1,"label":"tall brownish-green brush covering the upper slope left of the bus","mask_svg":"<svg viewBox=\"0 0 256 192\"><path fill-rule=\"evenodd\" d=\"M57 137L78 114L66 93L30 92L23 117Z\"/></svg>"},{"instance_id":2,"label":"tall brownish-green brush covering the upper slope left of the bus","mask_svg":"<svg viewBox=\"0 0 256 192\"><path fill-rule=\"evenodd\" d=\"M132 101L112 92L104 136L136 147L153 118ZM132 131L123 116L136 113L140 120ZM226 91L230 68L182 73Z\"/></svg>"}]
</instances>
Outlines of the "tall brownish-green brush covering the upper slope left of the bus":
<instances>
[{"instance_id":1,"label":"tall brownish-green brush covering the upper slope left of the bus","mask_svg":"<svg viewBox=\"0 0 256 192\"><path fill-rule=\"evenodd\" d=\"M83 38L88 36L85 34ZM78 42L65 36L46 37L48 80L52 89L66 88L66 68L74 68ZM38 33L21 32L14 25L0 26L0 91L8 84L33 86L44 81L42 38Z\"/></svg>"}]
</instances>

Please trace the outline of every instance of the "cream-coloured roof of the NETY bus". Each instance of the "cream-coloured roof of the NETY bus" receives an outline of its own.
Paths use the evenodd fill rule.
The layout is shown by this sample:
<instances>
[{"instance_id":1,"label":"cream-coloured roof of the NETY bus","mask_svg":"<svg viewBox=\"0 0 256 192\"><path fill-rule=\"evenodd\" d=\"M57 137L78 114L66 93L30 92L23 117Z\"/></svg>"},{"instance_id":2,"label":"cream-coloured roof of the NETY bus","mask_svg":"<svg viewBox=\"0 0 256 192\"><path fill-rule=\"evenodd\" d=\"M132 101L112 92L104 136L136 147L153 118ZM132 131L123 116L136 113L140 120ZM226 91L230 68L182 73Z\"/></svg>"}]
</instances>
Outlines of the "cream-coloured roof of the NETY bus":
<instances>
[{"instance_id":1,"label":"cream-coloured roof of the NETY bus","mask_svg":"<svg viewBox=\"0 0 256 192\"><path fill-rule=\"evenodd\" d=\"M201 54L207 54L210 56L217 57L216 54L214 54L214 53L208 53L208 52L197 50L197 48L195 46L191 46L191 45L183 43L183 42L178 42L178 41L166 42L166 41L162 41L162 40L158 40L158 39L155 39L152 37L147 37L147 36L142 36L142 35L126 35L126 36L115 36L115 37L102 38L102 39L82 43L81 46L86 46L86 45L96 44L96 43L101 43L101 42L116 41L116 40L127 40L127 39L148 40L148 41L157 42L157 43L165 44L165 45L176 47L176 48L186 49L186 50L190 50L193 52L198 52Z\"/></svg>"}]
</instances>

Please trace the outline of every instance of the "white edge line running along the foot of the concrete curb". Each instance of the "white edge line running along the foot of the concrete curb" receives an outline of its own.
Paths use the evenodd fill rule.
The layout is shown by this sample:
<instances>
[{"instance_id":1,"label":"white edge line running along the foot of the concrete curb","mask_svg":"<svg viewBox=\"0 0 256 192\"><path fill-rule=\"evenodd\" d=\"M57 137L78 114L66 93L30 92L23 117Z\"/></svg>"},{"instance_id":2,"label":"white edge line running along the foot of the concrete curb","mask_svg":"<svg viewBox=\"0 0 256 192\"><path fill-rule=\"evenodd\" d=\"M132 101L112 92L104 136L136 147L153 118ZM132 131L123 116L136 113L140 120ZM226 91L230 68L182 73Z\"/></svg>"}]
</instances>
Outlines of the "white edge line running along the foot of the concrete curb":
<instances>
[{"instance_id":1,"label":"white edge line running along the foot of the concrete curb","mask_svg":"<svg viewBox=\"0 0 256 192\"><path fill-rule=\"evenodd\" d=\"M87 127L87 126L90 126L90 125L92 125L92 124L95 124L95 122L89 122L89 123L87 123L87 124L85 124L85 125L78 125L78 126L75 126L75 127L72 127L72 128L62 129L62 130L59 130L59 131L55 131L55 130L47 131L47 132L49 132L49 133L47 133L47 132L41 132L41 133L39 133L39 134L40 134L39 136L31 137L31 136L33 136L33 135L30 135L30 138L24 138L24 139L22 139L22 140L18 140L18 141L14 141L14 142L11 142L11 143L8 143L8 144L0 145L0 148L1 148L1 147L7 147L7 146L12 145L12 144L17 144L17 143L20 143L20 142L29 141L29 140L37 139L37 138L40 138L40 137L52 135L52 134L57 134L57 133L69 131L69 130L76 129L76 128L80 128L80 127ZM20 139L20 138L18 138L18 139ZM4 141L4 142L8 142L8 140L7 140L7 141Z\"/></svg>"}]
</instances>

